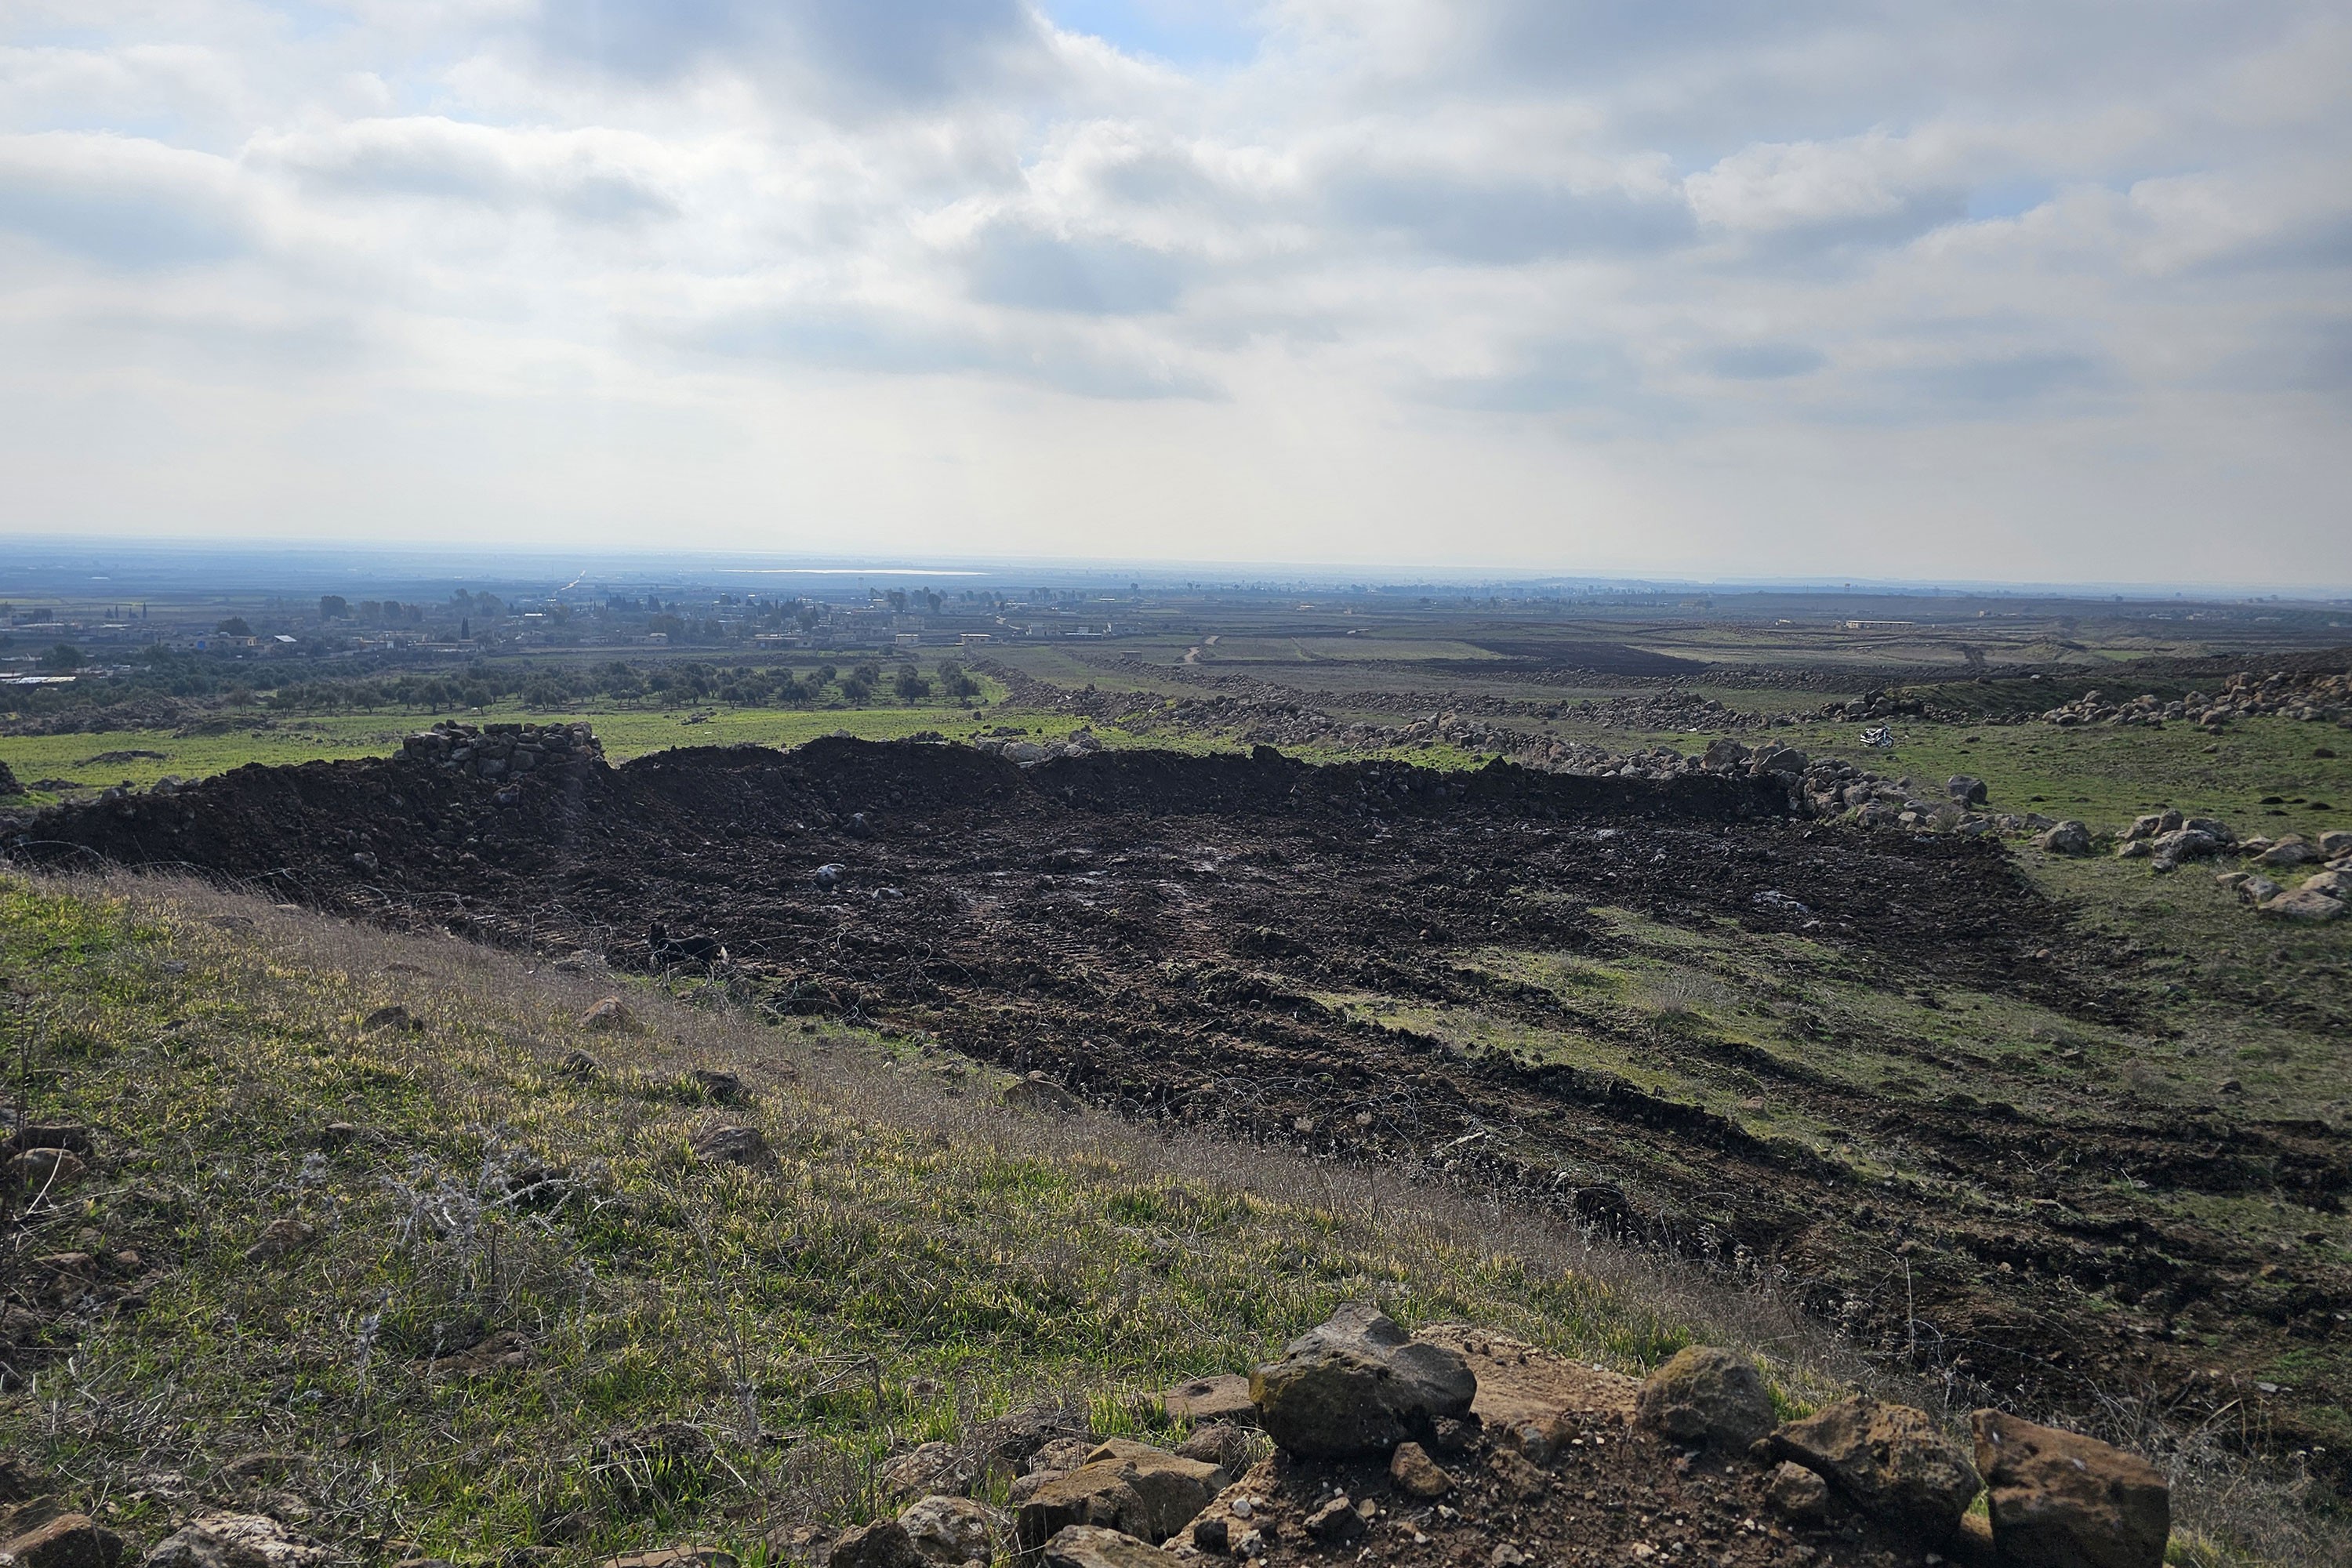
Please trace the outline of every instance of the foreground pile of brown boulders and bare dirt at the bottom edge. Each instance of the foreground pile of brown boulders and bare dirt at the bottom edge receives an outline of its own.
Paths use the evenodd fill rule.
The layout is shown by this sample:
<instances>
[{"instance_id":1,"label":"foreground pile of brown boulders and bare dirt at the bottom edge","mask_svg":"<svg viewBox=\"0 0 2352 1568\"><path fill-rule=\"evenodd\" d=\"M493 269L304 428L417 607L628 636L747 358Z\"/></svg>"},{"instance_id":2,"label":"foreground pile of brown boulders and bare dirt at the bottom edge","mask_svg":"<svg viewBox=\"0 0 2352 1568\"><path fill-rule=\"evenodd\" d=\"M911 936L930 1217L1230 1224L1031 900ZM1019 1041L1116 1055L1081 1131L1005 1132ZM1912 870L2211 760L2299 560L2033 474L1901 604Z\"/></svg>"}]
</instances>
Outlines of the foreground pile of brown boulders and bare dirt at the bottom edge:
<instances>
[{"instance_id":1,"label":"foreground pile of brown boulders and bare dirt at the bottom edge","mask_svg":"<svg viewBox=\"0 0 2352 1568\"><path fill-rule=\"evenodd\" d=\"M1228 1410L1232 1387L1181 1385L1164 1406ZM1762 1371L1710 1347L1637 1385L1510 1335L1406 1333L1345 1307L1249 1387L1275 1441L1256 1465L1223 1420L1176 1448L1042 1439L1061 1432L1058 1410L1009 1418L1023 1432L1009 1448L955 1448L967 1462L915 1462L950 1448L927 1443L891 1469L931 1476L927 1493L842 1535L830 1566L950 1568L1011 1549L1047 1568L2159 1568L2171 1533L2164 1479L2107 1443L1978 1410L1971 1450L1926 1410L1867 1396L1776 1425ZM988 1465L971 1462L983 1450ZM1009 1512L964 1495L1014 1450L1025 1474ZM1985 1488L1990 1514L1966 1519ZM800 1537L779 1554L821 1556Z\"/></svg>"}]
</instances>

